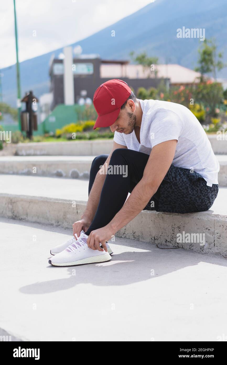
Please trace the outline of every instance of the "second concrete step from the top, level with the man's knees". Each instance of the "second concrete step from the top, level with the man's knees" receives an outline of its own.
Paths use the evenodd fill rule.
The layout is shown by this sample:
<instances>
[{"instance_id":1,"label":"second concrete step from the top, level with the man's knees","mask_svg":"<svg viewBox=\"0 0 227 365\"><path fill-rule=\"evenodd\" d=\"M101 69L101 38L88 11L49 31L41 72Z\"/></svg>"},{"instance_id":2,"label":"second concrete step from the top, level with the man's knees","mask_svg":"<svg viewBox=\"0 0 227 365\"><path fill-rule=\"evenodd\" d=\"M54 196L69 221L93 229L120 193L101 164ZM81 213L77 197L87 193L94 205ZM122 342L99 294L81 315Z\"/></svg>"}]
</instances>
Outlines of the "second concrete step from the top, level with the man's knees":
<instances>
[{"instance_id":1,"label":"second concrete step from the top, level with the man's knees","mask_svg":"<svg viewBox=\"0 0 227 365\"><path fill-rule=\"evenodd\" d=\"M217 158L220 164L219 186L225 187L227 155L217 155ZM0 157L0 174L89 178L93 159L94 156L3 156Z\"/></svg>"}]
</instances>

